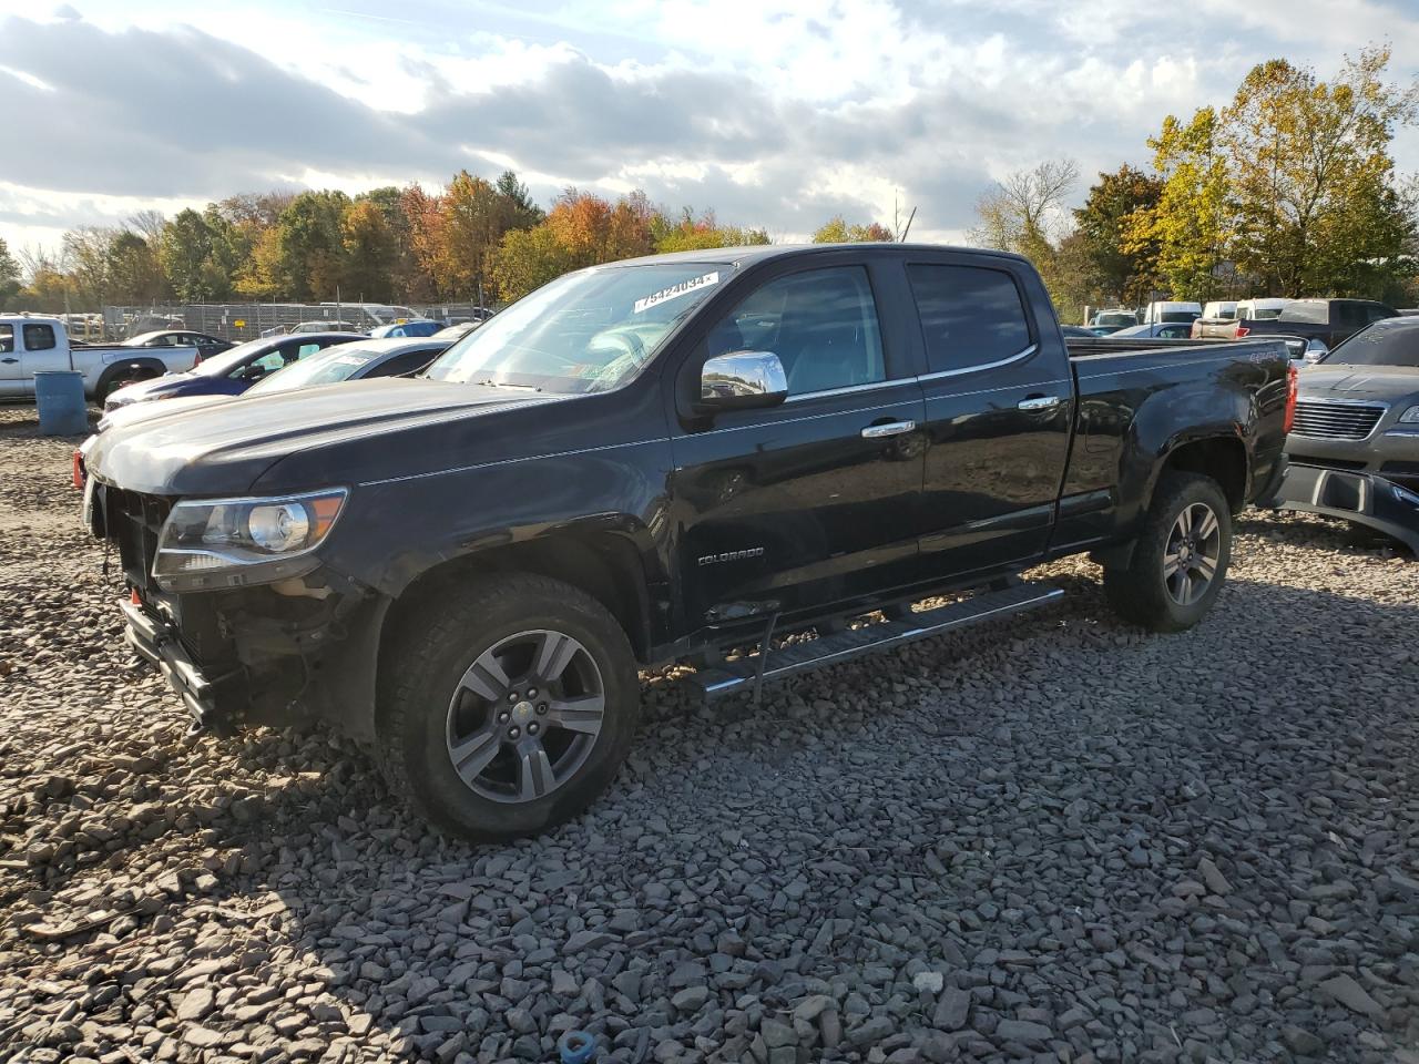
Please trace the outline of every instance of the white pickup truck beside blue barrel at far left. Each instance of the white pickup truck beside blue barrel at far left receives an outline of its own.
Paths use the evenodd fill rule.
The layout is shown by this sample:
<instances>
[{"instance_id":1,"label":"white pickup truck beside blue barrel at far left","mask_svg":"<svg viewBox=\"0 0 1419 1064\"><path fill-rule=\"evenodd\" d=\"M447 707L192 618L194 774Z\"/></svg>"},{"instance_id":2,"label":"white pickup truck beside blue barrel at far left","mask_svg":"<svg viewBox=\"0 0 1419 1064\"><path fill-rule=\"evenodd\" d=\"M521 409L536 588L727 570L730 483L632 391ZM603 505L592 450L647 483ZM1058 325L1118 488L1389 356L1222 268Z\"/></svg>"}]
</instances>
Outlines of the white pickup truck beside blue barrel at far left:
<instances>
[{"instance_id":1,"label":"white pickup truck beside blue barrel at far left","mask_svg":"<svg viewBox=\"0 0 1419 1064\"><path fill-rule=\"evenodd\" d=\"M34 399L35 373L72 369L84 375L84 393L102 403L114 389L182 373L196 362L196 346L71 345L58 318L0 314L0 399Z\"/></svg>"}]
</instances>

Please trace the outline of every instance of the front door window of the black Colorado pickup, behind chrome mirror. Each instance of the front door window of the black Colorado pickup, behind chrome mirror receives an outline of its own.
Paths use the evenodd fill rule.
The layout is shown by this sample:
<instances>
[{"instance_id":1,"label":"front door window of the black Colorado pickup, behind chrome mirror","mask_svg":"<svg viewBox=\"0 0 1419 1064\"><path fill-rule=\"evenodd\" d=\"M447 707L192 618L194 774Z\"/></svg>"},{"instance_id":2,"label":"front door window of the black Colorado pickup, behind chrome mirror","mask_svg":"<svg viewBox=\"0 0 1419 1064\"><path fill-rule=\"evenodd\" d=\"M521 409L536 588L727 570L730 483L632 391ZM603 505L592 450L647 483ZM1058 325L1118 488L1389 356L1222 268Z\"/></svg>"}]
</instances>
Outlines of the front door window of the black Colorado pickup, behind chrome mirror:
<instances>
[{"instance_id":1,"label":"front door window of the black Colorado pickup, behind chrome mirror","mask_svg":"<svg viewBox=\"0 0 1419 1064\"><path fill-rule=\"evenodd\" d=\"M877 304L864 267L827 267L769 281L710 333L710 355L773 352L789 394L887 379Z\"/></svg>"}]
</instances>

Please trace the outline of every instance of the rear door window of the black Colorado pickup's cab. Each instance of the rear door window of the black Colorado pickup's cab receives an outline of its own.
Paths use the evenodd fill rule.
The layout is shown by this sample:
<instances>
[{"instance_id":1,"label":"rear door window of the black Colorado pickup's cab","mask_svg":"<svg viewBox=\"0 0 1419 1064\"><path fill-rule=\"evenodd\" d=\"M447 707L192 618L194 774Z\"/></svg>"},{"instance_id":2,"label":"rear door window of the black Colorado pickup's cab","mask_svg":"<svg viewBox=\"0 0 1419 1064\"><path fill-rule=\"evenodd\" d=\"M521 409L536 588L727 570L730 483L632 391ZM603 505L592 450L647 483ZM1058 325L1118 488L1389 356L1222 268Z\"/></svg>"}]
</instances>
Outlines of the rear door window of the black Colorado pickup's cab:
<instances>
[{"instance_id":1,"label":"rear door window of the black Colorado pickup's cab","mask_svg":"<svg viewBox=\"0 0 1419 1064\"><path fill-rule=\"evenodd\" d=\"M1015 278L983 267L907 267L932 373L971 369L1019 355L1030 325Z\"/></svg>"}]
</instances>

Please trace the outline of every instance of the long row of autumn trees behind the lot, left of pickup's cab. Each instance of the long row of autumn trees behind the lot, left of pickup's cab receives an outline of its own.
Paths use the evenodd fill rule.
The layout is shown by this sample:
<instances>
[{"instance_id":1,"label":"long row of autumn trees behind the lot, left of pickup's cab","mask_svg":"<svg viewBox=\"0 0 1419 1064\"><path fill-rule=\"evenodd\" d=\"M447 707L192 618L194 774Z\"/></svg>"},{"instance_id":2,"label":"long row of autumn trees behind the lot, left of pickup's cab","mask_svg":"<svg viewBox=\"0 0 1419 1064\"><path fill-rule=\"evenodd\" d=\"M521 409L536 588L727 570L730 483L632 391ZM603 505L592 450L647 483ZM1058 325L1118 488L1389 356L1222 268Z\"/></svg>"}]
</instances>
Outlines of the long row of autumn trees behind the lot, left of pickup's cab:
<instances>
[{"instance_id":1,"label":"long row of autumn trees behind the lot, left of pickup's cab","mask_svg":"<svg viewBox=\"0 0 1419 1064\"><path fill-rule=\"evenodd\" d=\"M834 217L815 238L893 234ZM26 251L23 262L0 241L0 305L58 312L167 299L499 304L586 265L768 243L763 228L721 224L712 210L671 213L643 192L612 201L566 189L543 210L511 170L495 182L463 170L434 193L417 184L353 197L267 192L172 218L146 211L123 226L70 230L58 255Z\"/></svg>"}]
</instances>

